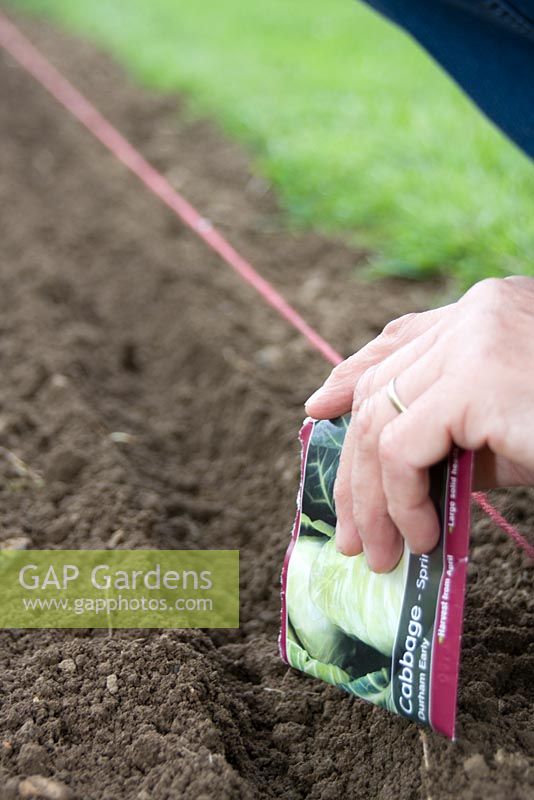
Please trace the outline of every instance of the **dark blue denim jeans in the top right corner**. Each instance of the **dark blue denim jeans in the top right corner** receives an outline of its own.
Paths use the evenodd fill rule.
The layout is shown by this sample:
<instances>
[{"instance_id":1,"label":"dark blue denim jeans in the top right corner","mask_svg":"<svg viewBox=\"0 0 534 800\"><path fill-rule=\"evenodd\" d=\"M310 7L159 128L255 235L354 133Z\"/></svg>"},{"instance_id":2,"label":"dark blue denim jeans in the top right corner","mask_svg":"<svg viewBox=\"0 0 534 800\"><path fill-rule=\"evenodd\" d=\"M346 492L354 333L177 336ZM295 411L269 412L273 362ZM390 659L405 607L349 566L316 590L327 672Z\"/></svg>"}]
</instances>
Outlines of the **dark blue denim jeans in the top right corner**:
<instances>
[{"instance_id":1,"label":"dark blue denim jeans in the top right corner","mask_svg":"<svg viewBox=\"0 0 534 800\"><path fill-rule=\"evenodd\" d=\"M534 0L364 0L404 28L534 158Z\"/></svg>"}]
</instances>

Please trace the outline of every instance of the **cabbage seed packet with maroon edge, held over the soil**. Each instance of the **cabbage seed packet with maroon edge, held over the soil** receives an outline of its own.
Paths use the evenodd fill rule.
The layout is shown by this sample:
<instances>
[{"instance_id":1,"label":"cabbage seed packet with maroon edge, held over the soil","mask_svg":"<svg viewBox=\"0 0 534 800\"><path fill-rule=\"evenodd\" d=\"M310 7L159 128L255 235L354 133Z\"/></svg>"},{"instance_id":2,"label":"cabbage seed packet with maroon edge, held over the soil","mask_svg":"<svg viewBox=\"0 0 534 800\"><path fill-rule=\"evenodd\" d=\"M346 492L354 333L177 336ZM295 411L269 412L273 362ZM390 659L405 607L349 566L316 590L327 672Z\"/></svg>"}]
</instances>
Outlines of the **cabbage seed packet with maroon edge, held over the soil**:
<instances>
[{"instance_id":1,"label":"cabbage seed packet with maroon edge, held over the soil","mask_svg":"<svg viewBox=\"0 0 534 800\"><path fill-rule=\"evenodd\" d=\"M333 488L349 416L300 431L297 515L282 571L283 660L454 738L473 454L454 447L430 473L437 547L405 547L387 574L336 551Z\"/></svg>"}]
</instances>

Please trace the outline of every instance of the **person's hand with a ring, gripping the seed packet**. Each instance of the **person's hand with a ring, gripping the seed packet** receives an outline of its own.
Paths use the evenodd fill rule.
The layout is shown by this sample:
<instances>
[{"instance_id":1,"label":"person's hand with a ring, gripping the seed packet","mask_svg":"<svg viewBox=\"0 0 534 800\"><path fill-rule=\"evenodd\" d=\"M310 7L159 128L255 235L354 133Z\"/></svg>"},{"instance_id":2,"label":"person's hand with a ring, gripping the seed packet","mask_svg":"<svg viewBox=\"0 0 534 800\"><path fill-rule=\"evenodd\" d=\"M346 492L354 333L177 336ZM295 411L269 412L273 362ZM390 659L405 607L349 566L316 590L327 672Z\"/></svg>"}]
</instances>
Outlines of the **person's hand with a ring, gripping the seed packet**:
<instances>
[{"instance_id":1,"label":"person's hand with a ring, gripping the seed packet","mask_svg":"<svg viewBox=\"0 0 534 800\"><path fill-rule=\"evenodd\" d=\"M396 379L407 411L388 394ZM394 320L306 403L352 411L334 497L336 545L370 567L437 544L428 469L452 444L475 450L475 486L534 484L534 279L489 279L457 303Z\"/></svg>"}]
</instances>

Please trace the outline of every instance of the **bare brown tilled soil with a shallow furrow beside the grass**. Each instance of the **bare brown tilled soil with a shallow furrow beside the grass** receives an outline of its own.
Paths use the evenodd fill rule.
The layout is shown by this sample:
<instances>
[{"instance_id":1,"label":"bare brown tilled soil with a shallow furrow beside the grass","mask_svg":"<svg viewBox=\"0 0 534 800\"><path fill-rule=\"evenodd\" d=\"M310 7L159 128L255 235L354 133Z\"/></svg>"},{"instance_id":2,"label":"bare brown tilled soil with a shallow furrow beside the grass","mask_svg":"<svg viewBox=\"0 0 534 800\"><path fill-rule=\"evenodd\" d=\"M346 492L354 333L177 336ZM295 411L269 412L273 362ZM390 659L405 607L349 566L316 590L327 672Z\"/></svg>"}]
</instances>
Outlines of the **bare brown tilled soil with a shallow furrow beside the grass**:
<instances>
[{"instance_id":1,"label":"bare brown tilled soil with a shallow furrow beside the grass","mask_svg":"<svg viewBox=\"0 0 534 800\"><path fill-rule=\"evenodd\" d=\"M357 253L285 231L243 154L180 102L24 28L344 352L432 302L436 287L366 283ZM242 563L238 631L0 634L0 797L36 774L78 798L534 797L523 555L476 522L455 744L287 669L297 430L328 368L4 55L0 93L0 443L29 467L0 451L1 538ZM527 493L500 502L529 529Z\"/></svg>"}]
</instances>

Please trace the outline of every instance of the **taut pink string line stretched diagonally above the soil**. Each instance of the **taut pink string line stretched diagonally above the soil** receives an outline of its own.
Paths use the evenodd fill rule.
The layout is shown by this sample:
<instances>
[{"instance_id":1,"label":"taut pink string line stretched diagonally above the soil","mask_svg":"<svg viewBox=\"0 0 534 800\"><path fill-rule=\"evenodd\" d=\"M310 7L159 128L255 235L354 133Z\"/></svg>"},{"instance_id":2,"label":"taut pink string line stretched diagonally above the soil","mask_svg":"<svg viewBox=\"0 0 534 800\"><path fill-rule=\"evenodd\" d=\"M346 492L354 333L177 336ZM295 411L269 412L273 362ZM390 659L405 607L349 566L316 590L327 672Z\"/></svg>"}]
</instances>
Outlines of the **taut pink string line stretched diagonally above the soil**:
<instances>
[{"instance_id":1,"label":"taut pink string line stretched diagonally above the soil","mask_svg":"<svg viewBox=\"0 0 534 800\"><path fill-rule=\"evenodd\" d=\"M300 316L300 314L277 292L254 267L244 259L229 242L213 227L209 220L199 214L193 206L177 192L166 178L143 158L127 139L102 116L42 53L0 13L0 45L12 58L29 72L55 99L76 117L113 155L153 194L162 200L176 216L202 239L208 247L218 253L246 283L252 286L284 319L298 330L331 364L339 364L342 356L328 344ZM475 492L473 498L488 516L502 528L527 555L534 559L534 547L522 534L494 508L486 495Z\"/></svg>"}]
</instances>

